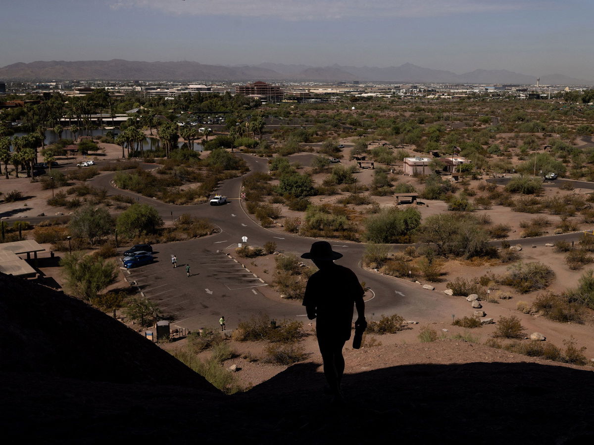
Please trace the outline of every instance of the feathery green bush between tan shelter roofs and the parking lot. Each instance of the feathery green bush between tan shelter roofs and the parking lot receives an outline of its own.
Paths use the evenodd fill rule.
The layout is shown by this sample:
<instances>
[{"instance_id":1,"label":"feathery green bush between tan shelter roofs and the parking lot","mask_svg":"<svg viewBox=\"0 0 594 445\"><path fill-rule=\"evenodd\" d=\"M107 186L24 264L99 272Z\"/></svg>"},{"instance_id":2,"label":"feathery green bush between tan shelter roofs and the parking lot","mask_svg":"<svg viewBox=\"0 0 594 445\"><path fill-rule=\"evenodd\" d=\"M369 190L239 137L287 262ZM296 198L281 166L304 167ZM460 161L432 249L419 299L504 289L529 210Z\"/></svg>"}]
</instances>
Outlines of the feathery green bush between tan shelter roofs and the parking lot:
<instances>
[{"instance_id":1,"label":"feathery green bush between tan shelter roofs and the parking lot","mask_svg":"<svg viewBox=\"0 0 594 445\"><path fill-rule=\"evenodd\" d=\"M64 267L66 287L75 297L89 301L115 281L118 266L100 256L82 252L67 253L60 260Z\"/></svg>"}]
</instances>

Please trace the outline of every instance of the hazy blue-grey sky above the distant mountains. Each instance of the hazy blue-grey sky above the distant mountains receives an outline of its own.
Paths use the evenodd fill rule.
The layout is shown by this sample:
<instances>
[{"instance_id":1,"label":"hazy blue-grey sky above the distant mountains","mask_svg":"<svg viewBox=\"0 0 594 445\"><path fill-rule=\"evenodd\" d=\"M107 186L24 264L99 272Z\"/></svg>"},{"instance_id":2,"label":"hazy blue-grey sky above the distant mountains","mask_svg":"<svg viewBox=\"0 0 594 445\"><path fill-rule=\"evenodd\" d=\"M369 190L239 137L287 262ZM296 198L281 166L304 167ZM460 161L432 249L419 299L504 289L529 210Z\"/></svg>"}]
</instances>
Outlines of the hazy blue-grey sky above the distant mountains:
<instances>
[{"instance_id":1,"label":"hazy blue-grey sky above the distant mountains","mask_svg":"<svg viewBox=\"0 0 594 445\"><path fill-rule=\"evenodd\" d=\"M592 0L2 0L0 66L50 60L594 77Z\"/></svg>"}]
</instances>

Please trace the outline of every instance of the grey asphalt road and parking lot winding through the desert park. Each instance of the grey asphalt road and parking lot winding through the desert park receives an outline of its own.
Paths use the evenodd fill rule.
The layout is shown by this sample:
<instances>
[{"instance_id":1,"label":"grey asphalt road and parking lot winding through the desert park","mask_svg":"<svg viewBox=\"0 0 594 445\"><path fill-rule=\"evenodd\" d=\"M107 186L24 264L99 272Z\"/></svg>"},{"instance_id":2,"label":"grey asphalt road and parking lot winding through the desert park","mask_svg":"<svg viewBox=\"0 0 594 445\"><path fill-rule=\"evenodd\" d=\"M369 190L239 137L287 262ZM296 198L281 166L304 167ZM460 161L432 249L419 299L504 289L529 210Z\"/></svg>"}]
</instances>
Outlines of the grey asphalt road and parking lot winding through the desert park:
<instances>
[{"instance_id":1,"label":"grey asphalt road and parking lot winding through the desert park","mask_svg":"<svg viewBox=\"0 0 594 445\"><path fill-rule=\"evenodd\" d=\"M249 169L267 171L266 158L247 154L236 154L243 158ZM310 155L299 155L301 164L308 164ZM296 158L297 160L297 158ZM154 164L142 164L143 169L152 169ZM277 250L296 256L308 252L315 240L277 232L263 228L253 221L241 205L241 183L243 177L223 182L217 193L228 196L229 204L224 206L173 205L156 199L147 198L116 189L111 180L115 173L102 174L90 182L96 187L104 187L109 195L131 196L138 202L154 206L164 221L172 221L181 214L191 214L208 218L220 228L220 233L200 239L178 241L175 243L155 244L156 261L150 265L125 272L127 280L150 300L159 304L167 314L175 317L174 325L198 329L205 326L217 326L221 315L227 320L228 328L237 326L240 319L248 319L252 314L267 313L276 319L305 318L305 310L299 302L280 300L267 292L268 285L254 276L251 271L225 255L247 237L251 245L263 246L267 241L274 241ZM583 183L580 187L585 188ZM592 185L594 187L594 185ZM31 222L35 219L29 218ZM579 234L548 236L538 239L510 240L512 244L523 246L538 245L561 238L577 239ZM333 249L344 256L339 264L347 266L364 281L371 290L366 301L368 317L377 319L381 314L399 313L407 319L432 319L447 321L451 317L454 297L443 293L425 290L420 285L405 279L375 274L361 268L360 261L365 245L342 240L328 240ZM495 241L499 244L500 241ZM170 255L178 258L178 267L172 268ZM186 265L191 266L191 276L185 272ZM456 298L457 299L457 298Z\"/></svg>"}]
</instances>

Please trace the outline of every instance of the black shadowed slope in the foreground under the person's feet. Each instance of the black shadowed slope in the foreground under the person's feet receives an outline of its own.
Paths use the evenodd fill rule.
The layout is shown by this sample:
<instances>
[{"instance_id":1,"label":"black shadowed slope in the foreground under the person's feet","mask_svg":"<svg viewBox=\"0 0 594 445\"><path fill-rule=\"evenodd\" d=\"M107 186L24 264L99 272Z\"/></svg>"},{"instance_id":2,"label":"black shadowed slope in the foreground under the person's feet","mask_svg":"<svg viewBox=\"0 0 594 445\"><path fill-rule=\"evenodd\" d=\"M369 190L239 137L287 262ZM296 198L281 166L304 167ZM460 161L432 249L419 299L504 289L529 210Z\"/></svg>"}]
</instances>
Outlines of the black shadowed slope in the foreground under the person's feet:
<instances>
[{"instance_id":1,"label":"black shadowed slope in the foreground under the person's feet","mask_svg":"<svg viewBox=\"0 0 594 445\"><path fill-rule=\"evenodd\" d=\"M7 443L594 440L591 368L530 358L536 363L480 363L493 350L460 342L390 345L361 350L366 370L345 376L349 402L340 408L324 399L314 362L223 396L86 304L11 276L0 275L0 286L0 427ZM418 363L386 365L399 347L408 363ZM426 363L438 349L457 363Z\"/></svg>"}]
</instances>

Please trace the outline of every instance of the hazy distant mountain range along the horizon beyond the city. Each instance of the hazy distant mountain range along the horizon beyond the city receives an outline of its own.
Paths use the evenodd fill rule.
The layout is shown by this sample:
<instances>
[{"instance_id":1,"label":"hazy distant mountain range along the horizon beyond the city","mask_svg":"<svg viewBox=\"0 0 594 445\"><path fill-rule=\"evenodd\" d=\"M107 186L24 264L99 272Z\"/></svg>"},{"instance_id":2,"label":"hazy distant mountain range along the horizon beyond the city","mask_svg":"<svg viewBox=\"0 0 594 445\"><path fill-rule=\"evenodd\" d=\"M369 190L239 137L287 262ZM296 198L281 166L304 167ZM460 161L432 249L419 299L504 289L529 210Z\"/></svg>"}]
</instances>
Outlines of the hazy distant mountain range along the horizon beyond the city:
<instances>
[{"instance_id":1,"label":"hazy distant mountain range along the horizon beyond the city","mask_svg":"<svg viewBox=\"0 0 594 445\"><path fill-rule=\"evenodd\" d=\"M51 61L13 63L0 68L3 80L178 80L178 81L346 81L447 84L533 85L535 75L505 69L476 69L456 74L404 63L399 66L308 66L282 63L223 66L198 62ZM562 74L542 75L544 85L592 85L593 81Z\"/></svg>"}]
</instances>

